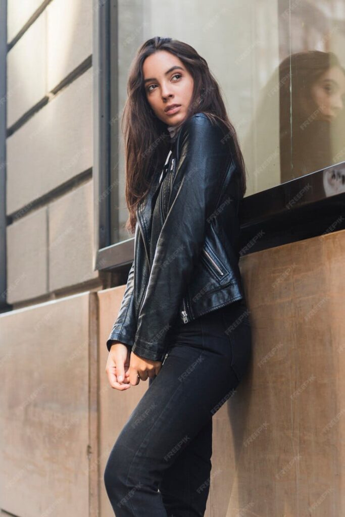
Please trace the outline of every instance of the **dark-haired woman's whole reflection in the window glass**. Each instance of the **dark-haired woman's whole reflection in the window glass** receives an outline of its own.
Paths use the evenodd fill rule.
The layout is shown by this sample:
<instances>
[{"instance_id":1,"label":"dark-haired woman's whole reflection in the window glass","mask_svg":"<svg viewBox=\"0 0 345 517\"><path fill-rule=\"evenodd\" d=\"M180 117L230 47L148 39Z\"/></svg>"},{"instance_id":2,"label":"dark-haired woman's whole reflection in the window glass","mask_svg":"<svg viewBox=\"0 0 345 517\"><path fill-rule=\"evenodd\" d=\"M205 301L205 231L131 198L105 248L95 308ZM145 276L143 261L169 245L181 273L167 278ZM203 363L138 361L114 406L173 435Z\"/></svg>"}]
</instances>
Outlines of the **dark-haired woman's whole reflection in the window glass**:
<instances>
[{"instance_id":1,"label":"dark-haired woman's whole reflection in the window glass","mask_svg":"<svg viewBox=\"0 0 345 517\"><path fill-rule=\"evenodd\" d=\"M280 64L279 78L285 78L279 99L281 182L342 161L345 71L337 56L292 54Z\"/></svg>"}]
</instances>

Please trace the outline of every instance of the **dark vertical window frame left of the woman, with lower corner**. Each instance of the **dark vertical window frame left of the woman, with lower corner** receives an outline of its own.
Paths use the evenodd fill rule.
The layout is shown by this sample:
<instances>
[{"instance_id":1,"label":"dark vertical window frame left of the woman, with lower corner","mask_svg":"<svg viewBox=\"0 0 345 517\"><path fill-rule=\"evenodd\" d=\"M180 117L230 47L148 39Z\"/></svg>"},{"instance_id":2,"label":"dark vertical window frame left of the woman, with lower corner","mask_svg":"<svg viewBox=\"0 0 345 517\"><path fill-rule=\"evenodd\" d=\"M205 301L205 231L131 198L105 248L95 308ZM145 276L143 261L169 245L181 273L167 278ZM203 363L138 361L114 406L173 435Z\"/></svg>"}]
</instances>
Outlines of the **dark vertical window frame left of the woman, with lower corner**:
<instances>
[{"instance_id":1,"label":"dark vertical window frame left of the woman, with lower corner","mask_svg":"<svg viewBox=\"0 0 345 517\"><path fill-rule=\"evenodd\" d=\"M94 9L94 206L96 232L95 270L114 270L133 261L134 237L110 244L112 199L118 197L117 2L96 2ZM115 65L114 65L115 64Z\"/></svg>"}]
</instances>

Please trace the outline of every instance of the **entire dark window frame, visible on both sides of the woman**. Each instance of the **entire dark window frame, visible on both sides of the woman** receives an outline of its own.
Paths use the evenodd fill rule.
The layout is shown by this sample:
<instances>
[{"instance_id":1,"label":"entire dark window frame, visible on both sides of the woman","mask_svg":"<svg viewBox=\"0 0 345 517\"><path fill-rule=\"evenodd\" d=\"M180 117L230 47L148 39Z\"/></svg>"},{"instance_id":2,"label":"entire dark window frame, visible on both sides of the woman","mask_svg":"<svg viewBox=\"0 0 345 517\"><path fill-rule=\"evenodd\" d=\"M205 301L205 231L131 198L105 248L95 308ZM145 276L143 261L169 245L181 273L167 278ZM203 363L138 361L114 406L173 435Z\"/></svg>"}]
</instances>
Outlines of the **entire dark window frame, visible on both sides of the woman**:
<instances>
[{"instance_id":1,"label":"entire dark window frame, visible on both sides of the woman","mask_svg":"<svg viewBox=\"0 0 345 517\"><path fill-rule=\"evenodd\" d=\"M95 209L98 227L95 269L104 271L117 271L130 265L134 253L134 237L110 244L111 217L116 217L111 210L110 192L113 191L116 199L118 179L114 164L118 162L119 136L117 124L110 124L112 114L118 113L117 84L112 84L110 77L110 63L117 66L117 45L112 41L117 41L117 2L104 0L103 5L98 3L95 9L93 52L94 191L95 208L98 207ZM112 73L113 77L118 77L117 70ZM326 197L323 176L327 169L343 171L344 164L329 165L326 169L244 197L239 212L241 256L321 235L329 231L339 217L340 222L331 231L342 230L345 227L345 193ZM301 192L307 192L307 195L301 195Z\"/></svg>"}]
</instances>

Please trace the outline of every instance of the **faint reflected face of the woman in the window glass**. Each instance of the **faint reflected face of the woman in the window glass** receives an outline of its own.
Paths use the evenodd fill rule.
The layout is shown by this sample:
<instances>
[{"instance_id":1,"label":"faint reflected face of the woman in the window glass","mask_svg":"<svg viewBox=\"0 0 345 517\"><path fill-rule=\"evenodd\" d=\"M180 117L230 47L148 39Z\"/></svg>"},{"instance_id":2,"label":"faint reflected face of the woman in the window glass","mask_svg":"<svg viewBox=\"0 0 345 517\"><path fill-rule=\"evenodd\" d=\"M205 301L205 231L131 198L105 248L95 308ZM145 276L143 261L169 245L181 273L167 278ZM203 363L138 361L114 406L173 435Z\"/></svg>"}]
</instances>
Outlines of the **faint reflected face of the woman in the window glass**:
<instances>
[{"instance_id":1,"label":"faint reflected face of the woman in the window glass","mask_svg":"<svg viewBox=\"0 0 345 517\"><path fill-rule=\"evenodd\" d=\"M311 97L317 106L315 118L328 120L336 118L344 109L345 76L334 66L324 72L311 88Z\"/></svg>"}]
</instances>

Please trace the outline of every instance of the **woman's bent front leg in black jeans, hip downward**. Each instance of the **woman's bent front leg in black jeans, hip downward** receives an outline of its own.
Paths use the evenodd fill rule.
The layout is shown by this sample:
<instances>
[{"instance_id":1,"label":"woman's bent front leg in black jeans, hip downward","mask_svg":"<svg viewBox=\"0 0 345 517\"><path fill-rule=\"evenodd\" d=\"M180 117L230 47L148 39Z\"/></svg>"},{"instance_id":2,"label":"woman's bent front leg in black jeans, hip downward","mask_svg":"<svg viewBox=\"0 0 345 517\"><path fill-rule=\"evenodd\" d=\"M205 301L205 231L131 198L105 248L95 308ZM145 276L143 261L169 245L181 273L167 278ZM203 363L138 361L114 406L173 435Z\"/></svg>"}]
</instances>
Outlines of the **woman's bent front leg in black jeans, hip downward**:
<instances>
[{"instance_id":1,"label":"woman's bent front leg in black jeans, hip downward","mask_svg":"<svg viewBox=\"0 0 345 517\"><path fill-rule=\"evenodd\" d=\"M164 473L237 384L226 358L188 345L170 349L159 374L119 434L104 470L116 517L168 515L158 492ZM204 494L197 495L200 499L189 496L194 505L189 514L202 517Z\"/></svg>"}]
</instances>

